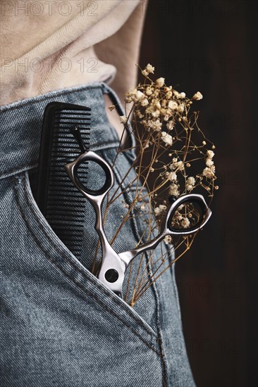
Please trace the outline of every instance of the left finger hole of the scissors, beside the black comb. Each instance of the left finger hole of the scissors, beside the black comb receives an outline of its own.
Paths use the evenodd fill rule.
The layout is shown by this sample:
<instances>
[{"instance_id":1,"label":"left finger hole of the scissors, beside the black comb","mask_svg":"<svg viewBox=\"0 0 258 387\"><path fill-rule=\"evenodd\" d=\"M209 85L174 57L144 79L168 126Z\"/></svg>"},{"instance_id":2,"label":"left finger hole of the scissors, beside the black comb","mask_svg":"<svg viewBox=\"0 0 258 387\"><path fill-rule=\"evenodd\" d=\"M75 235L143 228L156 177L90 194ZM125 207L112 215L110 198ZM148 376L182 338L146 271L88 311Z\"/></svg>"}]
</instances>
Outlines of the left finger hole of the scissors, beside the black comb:
<instances>
[{"instance_id":1,"label":"left finger hole of the scissors, beside the black comb","mask_svg":"<svg viewBox=\"0 0 258 387\"><path fill-rule=\"evenodd\" d=\"M97 196L110 189L109 174L106 173L104 167L93 160L84 160L76 165L77 183L87 194Z\"/></svg>"}]
</instances>

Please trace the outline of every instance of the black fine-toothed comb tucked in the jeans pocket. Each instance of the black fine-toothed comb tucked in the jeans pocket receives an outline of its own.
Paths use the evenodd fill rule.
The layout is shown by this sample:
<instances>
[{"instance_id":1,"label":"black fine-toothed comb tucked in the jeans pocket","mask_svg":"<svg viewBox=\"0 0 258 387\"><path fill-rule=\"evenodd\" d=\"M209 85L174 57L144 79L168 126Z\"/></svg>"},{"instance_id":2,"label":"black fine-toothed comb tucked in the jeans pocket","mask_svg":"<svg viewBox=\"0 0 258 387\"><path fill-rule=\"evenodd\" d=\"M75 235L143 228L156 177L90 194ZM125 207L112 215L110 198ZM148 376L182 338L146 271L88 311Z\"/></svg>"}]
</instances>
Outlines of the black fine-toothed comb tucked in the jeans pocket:
<instances>
[{"instance_id":1,"label":"black fine-toothed comb tucked in the jeans pocket","mask_svg":"<svg viewBox=\"0 0 258 387\"><path fill-rule=\"evenodd\" d=\"M59 239L77 257L82 247L85 198L70 181L64 165L81 153L70 132L78 127L90 147L91 109L70 103L51 102L44 111L39 152L37 205ZM87 182L87 164L80 166L80 180Z\"/></svg>"}]
</instances>

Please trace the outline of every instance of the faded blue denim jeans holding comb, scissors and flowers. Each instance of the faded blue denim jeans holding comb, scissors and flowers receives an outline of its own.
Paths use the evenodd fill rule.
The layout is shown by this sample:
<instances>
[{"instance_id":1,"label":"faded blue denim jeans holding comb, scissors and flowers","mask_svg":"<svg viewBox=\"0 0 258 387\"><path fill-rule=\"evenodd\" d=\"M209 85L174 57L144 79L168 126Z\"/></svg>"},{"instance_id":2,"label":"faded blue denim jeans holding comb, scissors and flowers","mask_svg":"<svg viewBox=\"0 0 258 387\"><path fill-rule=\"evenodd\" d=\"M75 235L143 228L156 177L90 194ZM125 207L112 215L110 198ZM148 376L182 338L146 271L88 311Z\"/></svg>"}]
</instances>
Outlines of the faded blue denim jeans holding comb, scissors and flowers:
<instances>
[{"instance_id":1,"label":"faded blue denim jeans holding comb, scissors and flowers","mask_svg":"<svg viewBox=\"0 0 258 387\"><path fill-rule=\"evenodd\" d=\"M106 116L103 94L119 103L106 84L94 83L1 108L3 387L195 386L185 352L173 267L132 308L90 272L98 241L92 205L85 199L82 253L75 258L35 203L32 187L47 103L90 106L90 147L113 162L119 140ZM118 156L113 190L134 157L133 151ZM134 174L131 170L124 184ZM101 178L99 170L90 168L89 179ZM125 203L133 200L134 189L131 186L123 196ZM125 211L122 200L113 203L105 224L108 239ZM140 219L128 222L113 248L121 252L135 247L143 229ZM139 260L133 262L133 277Z\"/></svg>"}]
</instances>

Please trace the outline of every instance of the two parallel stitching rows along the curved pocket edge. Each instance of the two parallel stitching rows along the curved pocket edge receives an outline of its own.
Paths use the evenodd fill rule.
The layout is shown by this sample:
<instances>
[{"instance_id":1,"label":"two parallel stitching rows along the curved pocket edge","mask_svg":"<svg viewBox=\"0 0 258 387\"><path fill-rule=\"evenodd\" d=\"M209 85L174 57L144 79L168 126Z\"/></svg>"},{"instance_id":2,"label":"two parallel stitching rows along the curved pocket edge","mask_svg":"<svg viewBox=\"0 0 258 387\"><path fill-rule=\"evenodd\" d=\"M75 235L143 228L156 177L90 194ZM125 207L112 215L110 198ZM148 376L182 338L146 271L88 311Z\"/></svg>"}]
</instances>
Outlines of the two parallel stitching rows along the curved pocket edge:
<instances>
[{"instance_id":1,"label":"two parallel stitching rows along the curved pocket edge","mask_svg":"<svg viewBox=\"0 0 258 387\"><path fill-rule=\"evenodd\" d=\"M17 177L13 177L12 178L13 181L14 181L14 186L15 186L15 198L16 198L16 203L18 205L18 208L20 210L20 214L22 215L23 217L23 221L25 222L26 226L27 226L27 229L30 231L30 234L32 235L32 238L34 239L35 243L37 244L37 246L39 246L39 248L41 250L44 251L44 247L42 246L42 243L40 243L40 241L37 239L37 236L35 236L35 233L33 231L33 229L30 227L30 224L29 222L27 222L27 219L26 219L26 215L25 215L25 212L23 211L23 208L22 206L20 205L20 199L19 199L19 194L18 194L18 186L16 185L16 179ZM133 315L131 312L130 312L130 309L126 309L123 305L123 303L118 303L118 300L116 300L116 298L112 297L111 294L109 294L105 288L102 288L99 286L99 284L97 284L97 282L94 282L92 281L92 279L90 278L90 276L87 276L87 273L84 273L82 271L80 271L80 269L78 267L76 267L75 263L72 262L68 257L64 256L63 255L63 252L61 250L59 250L58 246L54 245L51 241L51 239L49 238L49 235L46 233L46 231L43 229L42 227L42 224L39 222L38 218L37 218L37 214L35 213L35 209L32 207L32 204L30 203L29 201L29 198L28 198L28 192L27 192L27 186L25 185L25 177L22 177L22 186L23 186L23 189L24 189L24 192L25 192L25 200L27 201L27 205L28 207L30 208L31 212L32 212L32 215L34 215L35 217L35 220L37 220L37 224L39 225L39 229L43 232L44 236L46 236L47 238L47 241L49 242L49 244L54 247L54 249L56 249L58 251L58 253L61 255L61 257L68 261L70 265L72 265L72 267L77 271L79 272L82 277L84 277L85 279L87 279L88 281L90 281L94 286L96 286L97 288L99 288L99 290L103 291L105 293L106 296L108 296L109 298L111 298L111 300L116 303L116 305L118 305L119 307L121 307L126 313L128 313L130 315L130 317L132 317L135 322L137 323L137 325L139 325L142 329L145 330L145 332L147 334L149 334L150 336L152 337L155 337L155 332L153 331L150 331L147 329L147 327L142 324L142 321L139 319L137 319L135 317L135 315ZM47 253L46 251L44 251L44 253ZM93 293L91 293L89 290L85 289L84 286L82 286L82 284L80 284L80 282L76 281L73 277L70 277L70 275L68 273L66 273L61 267L59 267L59 265L56 265L56 262L54 260L51 259L51 257L49 257L49 255L46 255L46 258L47 260L49 260L57 269L59 269L66 277L68 277L71 281L73 281L74 284L76 284L76 286L78 286L79 288L82 289L82 291L84 291L85 293L87 293L89 296L91 296L92 298L94 298L94 300L99 303L99 305L101 305L104 310L106 310L106 312L109 312L111 315L115 316L119 321L121 321L125 326L128 327L128 329L130 329L130 331L133 332L133 334L135 334L135 336L137 336L137 338L140 338L140 340L145 343L149 348L151 348L152 350L154 350L155 353L157 353L159 356L160 353L156 350L156 348L154 348L152 345L150 345L147 341L145 341L144 338L142 338L142 336L140 336L139 334L137 334L137 332L133 329L132 326L130 326L129 324L127 324L123 319L121 319L121 317L119 317L118 315L116 315L116 313L113 312L113 310L109 309L108 307L106 307L106 305L104 303L102 303L102 301L99 300L99 298L97 298ZM156 337L155 337L156 338ZM159 338L156 338L156 340L159 340Z\"/></svg>"}]
</instances>

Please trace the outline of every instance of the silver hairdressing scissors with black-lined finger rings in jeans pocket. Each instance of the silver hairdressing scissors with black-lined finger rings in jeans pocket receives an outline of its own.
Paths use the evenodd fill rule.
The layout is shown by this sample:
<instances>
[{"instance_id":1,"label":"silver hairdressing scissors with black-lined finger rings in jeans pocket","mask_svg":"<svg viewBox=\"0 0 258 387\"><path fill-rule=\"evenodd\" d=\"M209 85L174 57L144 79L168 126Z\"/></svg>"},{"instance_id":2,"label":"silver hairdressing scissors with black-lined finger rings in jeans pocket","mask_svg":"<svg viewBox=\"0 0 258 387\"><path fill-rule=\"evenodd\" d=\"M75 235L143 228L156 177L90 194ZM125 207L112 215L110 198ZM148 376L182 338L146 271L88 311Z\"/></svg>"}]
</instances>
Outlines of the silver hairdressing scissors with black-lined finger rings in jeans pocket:
<instances>
[{"instance_id":1,"label":"silver hairdressing scissors with black-lined finger rings in jeans pocket","mask_svg":"<svg viewBox=\"0 0 258 387\"><path fill-rule=\"evenodd\" d=\"M211 210L208 208L207 203L204 201L204 197L202 195L187 194L180 196L180 198L176 199L176 201L173 201L173 203L171 203L171 205L168 207L166 216L164 217L163 223L161 224L161 232L158 236L156 236L156 238L152 239L152 241L142 244L142 246L133 248L132 250L123 251L123 253L116 253L116 251L110 245L109 241L106 239L102 220L102 207L104 198L114 184L113 171L109 163L106 163L104 158L85 147L85 144L83 144L82 138L80 137L80 131L78 127L73 127L71 132L73 133L75 139L77 139L82 153L80 153L78 158L76 158L72 163L66 164L65 168L73 184L75 184L82 195L85 196L85 198L87 198L90 203L92 203L96 213L95 229L99 235L99 239L102 245L102 265L99 269L97 277L106 287L111 289L111 291L116 293L118 296L122 297L122 286L125 277L125 269L137 255L145 252L146 250L152 250L156 248L156 246L162 240L164 240L166 235L188 235L194 233L200 227L204 227L204 224L206 224L209 220L209 217L211 217ZM78 168L80 165L89 161L97 163L100 167L102 167L106 176L106 180L103 186L96 191L82 184L82 182L80 182L80 178L78 177ZM193 227L188 227L187 229L178 229L173 227L172 220L176 210L178 210L180 205L183 205L184 203L197 205L201 216Z\"/></svg>"}]
</instances>

